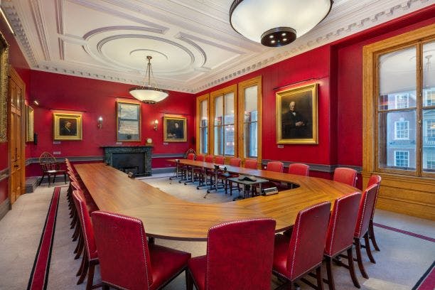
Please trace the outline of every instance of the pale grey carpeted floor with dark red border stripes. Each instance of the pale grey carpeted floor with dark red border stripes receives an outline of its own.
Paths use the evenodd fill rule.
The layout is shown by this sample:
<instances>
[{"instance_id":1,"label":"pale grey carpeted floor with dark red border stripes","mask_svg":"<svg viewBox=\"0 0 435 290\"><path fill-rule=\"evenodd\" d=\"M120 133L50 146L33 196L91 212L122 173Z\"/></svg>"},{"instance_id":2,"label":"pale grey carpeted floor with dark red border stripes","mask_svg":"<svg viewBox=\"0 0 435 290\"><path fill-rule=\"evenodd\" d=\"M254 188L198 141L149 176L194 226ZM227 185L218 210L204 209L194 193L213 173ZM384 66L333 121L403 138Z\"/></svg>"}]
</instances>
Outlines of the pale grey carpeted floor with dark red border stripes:
<instances>
[{"instance_id":1,"label":"pale grey carpeted floor with dark red border stripes","mask_svg":"<svg viewBox=\"0 0 435 290\"><path fill-rule=\"evenodd\" d=\"M222 192L210 193L208 198L204 199L205 190L196 190L195 186L184 186L178 182L170 184L167 177L154 176L144 179L144 182L177 198L196 203L222 203L232 200L232 197ZM63 183L57 185L64 186ZM26 289L53 189L53 186L40 186L35 193L21 196L14 203L13 210L0 220L0 289ZM70 238L73 230L69 227L65 192L66 188L62 188L47 289L85 289L86 281L76 285L75 272L80 267L80 260L74 260L73 256L75 242ZM435 222L429 220L377 210L375 222L435 237ZM362 289L412 289L435 260L435 242L382 227L375 227L375 232L381 251L374 252L377 264L371 264L366 254L363 254L370 279L363 279L357 267L356 272ZM156 240L156 243L191 252L193 256L205 254L206 249L205 242ZM347 269L335 267L333 271L337 289L355 289ZM98 267L94 281L100 281ZM272 279L271 288L279 284L279 281ZM327 289L328 286L324 286ZM184 276L178 276L165 289L186 289ZM309 288L301 284L301 289Z\"/></svg>"}]
</instances>

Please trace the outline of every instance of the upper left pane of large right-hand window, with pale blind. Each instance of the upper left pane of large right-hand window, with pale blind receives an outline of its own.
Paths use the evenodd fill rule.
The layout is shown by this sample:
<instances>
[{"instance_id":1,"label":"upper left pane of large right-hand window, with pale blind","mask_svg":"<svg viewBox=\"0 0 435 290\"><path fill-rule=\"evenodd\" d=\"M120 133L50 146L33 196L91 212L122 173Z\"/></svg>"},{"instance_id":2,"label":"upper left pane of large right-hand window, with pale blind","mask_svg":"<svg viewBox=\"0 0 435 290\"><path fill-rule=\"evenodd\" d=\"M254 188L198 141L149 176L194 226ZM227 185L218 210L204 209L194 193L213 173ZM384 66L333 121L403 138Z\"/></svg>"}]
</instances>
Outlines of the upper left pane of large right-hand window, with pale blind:
<instances>
[{"instance_id":1,"label":"upper left pane of large right-hand window, with pale blind","mask_svg":"<svg viewBox=\"0 0 435 290\"><path fill-rule=\"evenodd\" d=\"M380 110L417 106L417 49L386 53L379 58Z\"/></svg>"}]
</instances>

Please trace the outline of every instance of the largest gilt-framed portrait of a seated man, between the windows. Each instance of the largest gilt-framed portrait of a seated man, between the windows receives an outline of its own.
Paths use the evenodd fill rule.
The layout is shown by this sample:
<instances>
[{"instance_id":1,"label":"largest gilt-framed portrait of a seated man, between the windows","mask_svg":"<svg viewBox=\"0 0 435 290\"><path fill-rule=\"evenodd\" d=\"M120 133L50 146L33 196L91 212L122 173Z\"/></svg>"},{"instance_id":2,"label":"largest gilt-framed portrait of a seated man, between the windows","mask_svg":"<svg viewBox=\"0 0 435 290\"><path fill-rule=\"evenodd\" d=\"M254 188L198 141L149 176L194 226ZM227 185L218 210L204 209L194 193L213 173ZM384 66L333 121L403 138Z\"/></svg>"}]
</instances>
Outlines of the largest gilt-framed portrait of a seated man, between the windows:
<instances>
[{"instance_id":1,"label":"largest gilt-framed portrait of a seated man, between the windows","mask_svg":"<svg viewBox=\"0 0 435 290\"><path fill-rule=\"evenodd\" d=\"M276 92L276 143L318 144L317 84Z\"/></svg>"}]
</instances>

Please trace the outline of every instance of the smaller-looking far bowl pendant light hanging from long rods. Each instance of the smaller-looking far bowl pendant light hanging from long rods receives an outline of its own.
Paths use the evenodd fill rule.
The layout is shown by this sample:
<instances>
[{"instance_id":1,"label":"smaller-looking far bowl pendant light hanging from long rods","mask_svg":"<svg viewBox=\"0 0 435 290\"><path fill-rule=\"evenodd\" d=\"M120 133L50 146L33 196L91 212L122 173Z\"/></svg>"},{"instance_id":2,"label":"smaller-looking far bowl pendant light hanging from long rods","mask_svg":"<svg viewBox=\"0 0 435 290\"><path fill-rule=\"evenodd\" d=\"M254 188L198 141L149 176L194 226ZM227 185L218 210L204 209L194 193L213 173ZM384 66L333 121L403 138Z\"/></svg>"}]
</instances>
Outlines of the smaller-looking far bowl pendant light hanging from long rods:
<instances>
[{"instance_id":1,"label":"smaller-looking far bowl pendant light hanging from long rods","mask_svg":"<svg viewBox=\"0 0 435 290\"><path fill-rule=\"evenodd\" d=\"M166 90L159 89L157 87L156 80L154 80L153 70L151 69L151 56L147 56L148 65L146 65L145 71L145 81L148 76L148 83L145 83L143 87L133 87L130 89L130 94L135 97L137 100L147 103L147 104L156 104L156 102L160 102L166 97L168 97L169 93ZM154 82L151 82L151 77Z\"/></svg>"}]
</instances>

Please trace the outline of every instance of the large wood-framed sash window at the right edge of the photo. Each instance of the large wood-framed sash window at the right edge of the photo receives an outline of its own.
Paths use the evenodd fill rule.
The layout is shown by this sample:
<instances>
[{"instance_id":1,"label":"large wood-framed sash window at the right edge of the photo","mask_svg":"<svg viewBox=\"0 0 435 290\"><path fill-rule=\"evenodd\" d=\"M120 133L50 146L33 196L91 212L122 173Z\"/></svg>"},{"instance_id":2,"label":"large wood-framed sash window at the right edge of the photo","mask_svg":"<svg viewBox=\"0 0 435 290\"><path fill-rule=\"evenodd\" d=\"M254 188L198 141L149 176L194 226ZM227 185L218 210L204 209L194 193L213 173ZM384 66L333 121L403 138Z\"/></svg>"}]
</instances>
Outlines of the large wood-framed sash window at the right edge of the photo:
<instances>
[{"instance_id":1,"label":"large wood-framed sash window at the right edge of the photo","mask_svg":"<svg viewBox=\"0 0 435 290\"><path fill-rule=\"evenodd\" d=\"M435 39L425 37L409 33L403 46L383 41L364 48L363 171L435 177L435 73L425 65Z\"/></svg>"}]
</instances>

